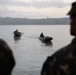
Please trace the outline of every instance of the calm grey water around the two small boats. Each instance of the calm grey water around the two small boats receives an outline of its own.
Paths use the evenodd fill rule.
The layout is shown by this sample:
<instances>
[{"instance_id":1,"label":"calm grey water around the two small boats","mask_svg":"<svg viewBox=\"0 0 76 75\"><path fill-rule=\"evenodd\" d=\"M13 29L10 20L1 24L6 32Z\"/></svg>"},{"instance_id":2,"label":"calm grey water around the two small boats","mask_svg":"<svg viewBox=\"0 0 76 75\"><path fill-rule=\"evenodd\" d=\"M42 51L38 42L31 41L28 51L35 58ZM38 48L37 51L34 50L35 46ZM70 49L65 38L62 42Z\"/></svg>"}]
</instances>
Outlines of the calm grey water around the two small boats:
<instances>
[{"instance_id":1,"label":"calm grey water around the two small boats","mask_svg":"<svg viewBox=\"0 0 76 75\"><path fill-rule=\"evenodd\" d=\"M22 32L18 40L13 37L16 29ZM47 56L71 42L69 29L69 25L0 25L0 38L8 43L16 60L12 75L40 75ZM39 40L41 32L53 37L52 45Z\"/></svg>"}]
</instances>

